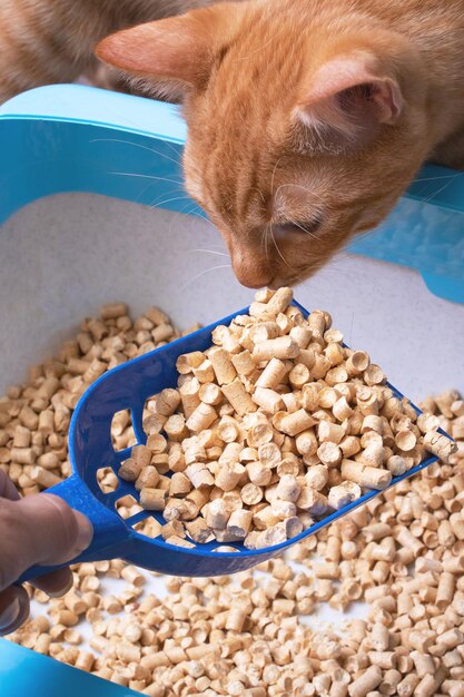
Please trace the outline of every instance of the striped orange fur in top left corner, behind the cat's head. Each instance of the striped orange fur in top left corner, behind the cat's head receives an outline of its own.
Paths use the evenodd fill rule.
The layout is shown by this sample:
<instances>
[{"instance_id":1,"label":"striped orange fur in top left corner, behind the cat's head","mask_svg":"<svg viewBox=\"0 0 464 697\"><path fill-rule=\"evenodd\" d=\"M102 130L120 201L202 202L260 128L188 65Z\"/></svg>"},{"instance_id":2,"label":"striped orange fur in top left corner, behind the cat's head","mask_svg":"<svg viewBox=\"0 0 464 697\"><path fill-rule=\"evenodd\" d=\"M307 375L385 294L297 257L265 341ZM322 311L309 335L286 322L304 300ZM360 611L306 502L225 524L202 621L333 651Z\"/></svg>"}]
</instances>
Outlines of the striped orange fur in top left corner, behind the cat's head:
<instances>
[{"instance_id":1,"label":"striped orange fur in top left corner, behind the cat's head","mask_svg":"<svg viewBox=\"0 0 464 697\"><path fill-rule=\"evenodd\" d=\"M208 0L0 0L0 104L91 72L97 41L112 31L205 4Z\"/></svg>"}]
</instances>

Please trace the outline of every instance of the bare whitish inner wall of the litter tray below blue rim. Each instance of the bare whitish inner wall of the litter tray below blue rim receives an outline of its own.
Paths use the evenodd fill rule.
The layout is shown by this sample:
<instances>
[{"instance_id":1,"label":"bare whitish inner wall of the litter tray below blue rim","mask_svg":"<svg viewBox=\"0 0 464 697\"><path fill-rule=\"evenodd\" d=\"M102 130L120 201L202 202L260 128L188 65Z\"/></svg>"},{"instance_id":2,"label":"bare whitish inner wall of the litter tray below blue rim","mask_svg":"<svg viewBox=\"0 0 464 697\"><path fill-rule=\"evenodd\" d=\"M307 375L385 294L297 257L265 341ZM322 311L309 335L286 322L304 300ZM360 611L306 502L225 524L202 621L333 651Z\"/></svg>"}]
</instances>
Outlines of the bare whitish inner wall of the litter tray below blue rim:
<instances>
[{"instance_id":1,"label":"bare whitish inner wall of the litter tray below blue rim","mask_svg":"<svg viewBox=\"0 0 464 697\"><path fill-rule=\"evenodd\" d=\"M21 209L0 228L0 394L106 302L132 313L157 304L181 327L247 305L253 292L224 254L210 223L179 213L88 194ZM328 310L411 399L464 389L464 306L432 295L416 272L340 254L296 297Z\"/></svg>"}]
</instances>

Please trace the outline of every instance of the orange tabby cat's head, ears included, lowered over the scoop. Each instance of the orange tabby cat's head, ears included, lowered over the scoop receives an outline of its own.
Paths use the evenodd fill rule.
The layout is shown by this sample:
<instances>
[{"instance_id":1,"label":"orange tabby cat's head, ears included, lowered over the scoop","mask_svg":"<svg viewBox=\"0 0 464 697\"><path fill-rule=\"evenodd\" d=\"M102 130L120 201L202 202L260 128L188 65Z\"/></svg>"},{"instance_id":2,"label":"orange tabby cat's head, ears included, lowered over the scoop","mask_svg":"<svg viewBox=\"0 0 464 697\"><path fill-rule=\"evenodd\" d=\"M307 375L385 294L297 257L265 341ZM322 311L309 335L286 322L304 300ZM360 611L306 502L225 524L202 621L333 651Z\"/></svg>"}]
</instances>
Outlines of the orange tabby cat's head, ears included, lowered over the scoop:
<instances>
[{"instance_id":1,"label":"orange tabby cat's head, ears included, lowered over the scoop","mask_svg":"<svg viewBox=\"0 0 464 697\"><path fill-rule=\"evenodd\" d=\"M312 17L290 0L225 2L97 47L181 98L186 188L250 287L295 284L378 224L427 151L415 51L327 6Z\"/></svg>"}]
</instances>

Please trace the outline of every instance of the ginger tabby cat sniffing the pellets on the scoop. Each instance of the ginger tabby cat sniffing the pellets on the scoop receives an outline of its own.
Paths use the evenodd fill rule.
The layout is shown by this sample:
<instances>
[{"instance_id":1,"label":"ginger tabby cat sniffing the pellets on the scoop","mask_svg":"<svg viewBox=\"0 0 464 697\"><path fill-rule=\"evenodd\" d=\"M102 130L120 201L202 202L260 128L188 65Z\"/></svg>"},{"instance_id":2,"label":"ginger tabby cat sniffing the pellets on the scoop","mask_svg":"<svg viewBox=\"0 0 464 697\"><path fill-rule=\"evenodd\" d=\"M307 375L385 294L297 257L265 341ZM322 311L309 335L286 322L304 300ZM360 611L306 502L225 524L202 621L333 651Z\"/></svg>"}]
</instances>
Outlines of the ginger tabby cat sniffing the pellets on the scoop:
<instances>
[{"instance_id":1,"label":"ginger tabby cat sniffing the pellets on the scoop","mask_svg":"<svg viewBox=\"0 0 464 697\"><path fill-rule=\"evenodd\" d=\"M197 8L119 31L97 56L181 97L186 187L245 285L313 274L386 216L425 159L464 168L464 0L2 0L8 46L2 14L18 4L43 7L48 81L72 79L71 55L81 72L105 32ZM55 33L50 6L68 18ZM45 49L28 48L22 68L47 81ZM6 75L0 97L24 88L19 66Z\"/></svg>"}]
</instances>

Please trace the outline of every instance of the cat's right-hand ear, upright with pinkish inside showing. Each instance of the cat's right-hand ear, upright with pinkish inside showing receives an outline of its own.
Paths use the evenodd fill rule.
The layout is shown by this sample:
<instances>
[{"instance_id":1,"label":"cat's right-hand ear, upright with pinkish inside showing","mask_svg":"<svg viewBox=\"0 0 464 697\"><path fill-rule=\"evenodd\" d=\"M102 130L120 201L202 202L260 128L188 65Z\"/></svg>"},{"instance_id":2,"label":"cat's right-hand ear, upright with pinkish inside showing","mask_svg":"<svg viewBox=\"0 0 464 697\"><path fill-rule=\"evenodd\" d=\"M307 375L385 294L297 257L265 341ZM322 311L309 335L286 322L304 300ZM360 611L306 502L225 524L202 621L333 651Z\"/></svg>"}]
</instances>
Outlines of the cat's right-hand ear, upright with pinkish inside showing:
<instances>
[{"instance_id":1,"label":"cat's right-hand ear, upright with pinkish inside showing","mask_svg":"<svg viewBox=\"0 0 464 697\"><path fill-rule=\"evenodd\" d=\"M338 57L315 73L296 108L297 118L318 131L351 140L368 139L381 124L395 124L404 108L396 79L383 75L367 52Z\"/></svg>"}]
</instances>

